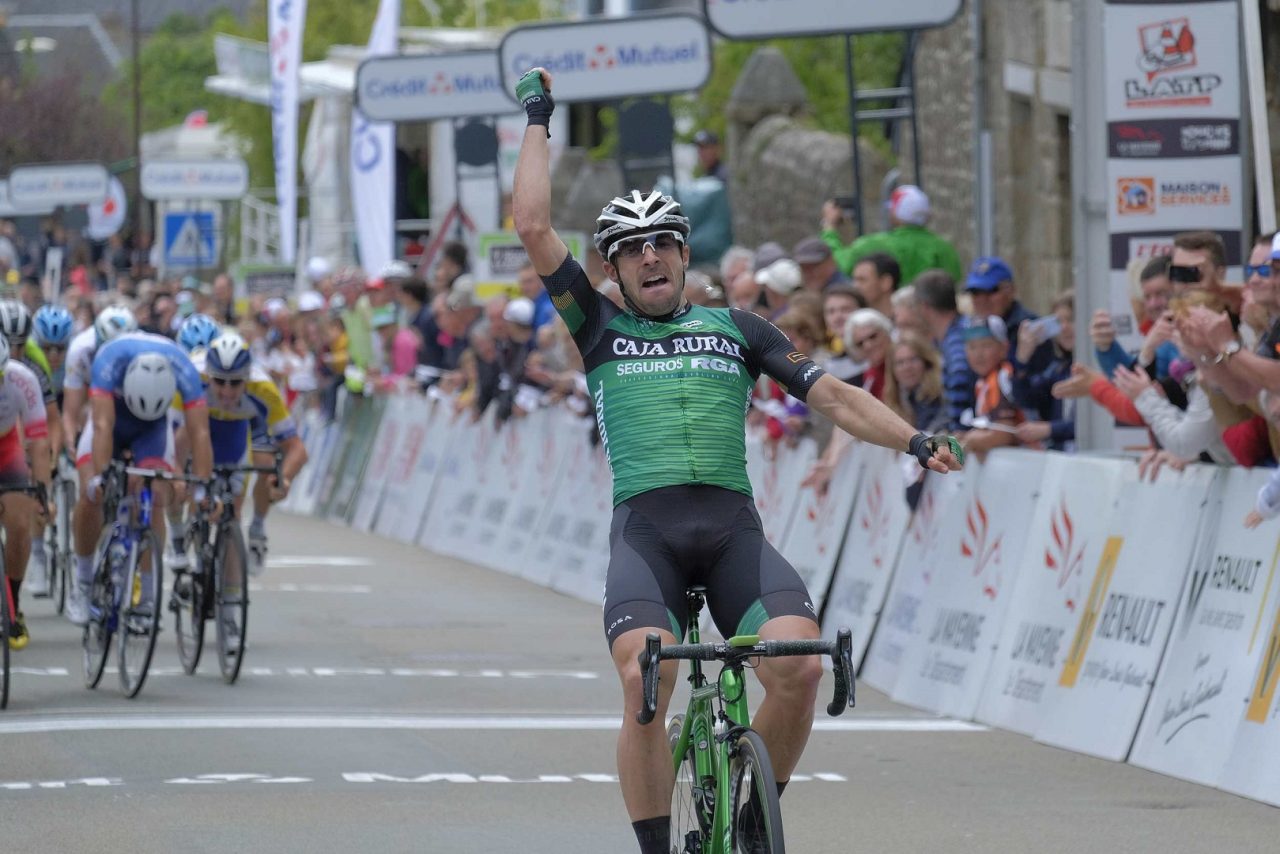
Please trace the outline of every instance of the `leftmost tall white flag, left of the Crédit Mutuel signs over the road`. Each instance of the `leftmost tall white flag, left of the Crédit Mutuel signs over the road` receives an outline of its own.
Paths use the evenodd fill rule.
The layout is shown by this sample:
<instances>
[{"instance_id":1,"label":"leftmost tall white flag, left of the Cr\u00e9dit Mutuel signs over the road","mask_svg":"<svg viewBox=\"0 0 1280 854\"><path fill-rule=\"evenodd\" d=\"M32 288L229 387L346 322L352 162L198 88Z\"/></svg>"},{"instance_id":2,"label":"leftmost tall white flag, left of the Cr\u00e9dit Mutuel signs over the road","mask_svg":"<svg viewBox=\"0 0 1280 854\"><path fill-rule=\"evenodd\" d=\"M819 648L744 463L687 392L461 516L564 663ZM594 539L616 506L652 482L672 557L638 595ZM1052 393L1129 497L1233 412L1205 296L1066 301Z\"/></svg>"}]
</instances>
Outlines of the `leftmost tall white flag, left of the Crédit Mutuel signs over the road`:
<instances>
[{"instance_id":1,"label":"leftmost tall white flag, left of the Cr\u00e9dit Mutuel signs over the road","mask_svg":"<svg viewBox=\"0 0 1280 854\"><path fill-rule=\"evenodd\" d=\"M298 65L307 0L269 0L268 50L271 63L271 145L275 198L280 213L280 260L293 264L298 241Z\"/></svg>"}]
</instances>

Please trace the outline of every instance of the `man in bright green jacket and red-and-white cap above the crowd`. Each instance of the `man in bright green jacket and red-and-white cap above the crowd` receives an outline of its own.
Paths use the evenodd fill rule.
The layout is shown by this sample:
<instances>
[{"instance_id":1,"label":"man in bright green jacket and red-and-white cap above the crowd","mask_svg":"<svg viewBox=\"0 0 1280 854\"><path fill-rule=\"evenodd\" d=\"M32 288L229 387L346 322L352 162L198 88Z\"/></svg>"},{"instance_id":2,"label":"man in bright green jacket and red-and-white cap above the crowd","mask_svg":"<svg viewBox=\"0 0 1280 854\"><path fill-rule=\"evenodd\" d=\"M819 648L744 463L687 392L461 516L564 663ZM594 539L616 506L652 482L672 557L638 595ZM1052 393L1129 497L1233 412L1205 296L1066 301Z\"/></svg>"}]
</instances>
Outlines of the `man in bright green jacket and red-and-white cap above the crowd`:
<instances>
[{"instance_id":1,"label":"man in bright green jacket and red-and-white cap above the crowd","mask_svg":"<svg viewBox=\"0 0 1280 854\"><path fill-rule=\"evenodd\" d=\"M914 184L904 184L888 197L890 230L864 234L852 243L841 243L836 229L844 211L833 202L822 206L822 239L831 247L836 264L851 275L858 260L872 252L888 252L902 270L902 284L910 284L925 270L946 270L960 280L960 256L951 243L925 228L929 222L929 197Z\"/></svg>"}]
</instances>

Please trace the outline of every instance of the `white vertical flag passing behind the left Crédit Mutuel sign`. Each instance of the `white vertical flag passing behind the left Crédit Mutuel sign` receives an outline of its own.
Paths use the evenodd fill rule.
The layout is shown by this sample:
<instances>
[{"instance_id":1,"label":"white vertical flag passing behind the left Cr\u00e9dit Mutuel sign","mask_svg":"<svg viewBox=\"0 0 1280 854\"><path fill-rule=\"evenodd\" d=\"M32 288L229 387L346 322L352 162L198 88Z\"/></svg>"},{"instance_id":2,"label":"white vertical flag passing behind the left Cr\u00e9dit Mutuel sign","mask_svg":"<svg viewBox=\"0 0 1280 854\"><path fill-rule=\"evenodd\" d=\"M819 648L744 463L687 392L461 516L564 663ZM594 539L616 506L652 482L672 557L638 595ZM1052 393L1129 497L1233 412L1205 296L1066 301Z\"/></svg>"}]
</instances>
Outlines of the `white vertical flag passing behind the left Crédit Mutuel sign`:
<instances>
[{"instance_id":1,"label":"white vertical flag passing behind the left Cr\u00e9dit Mutuel sign","mask_svg":"<svg viewBox=\"0 0 1280 854\"><path fill-rule=\"evenodd\" d=\"M365 56L394 56L399 0L381 0ZM396 257L396 124L351 115L351 202L356 215L360 265L376 275Z\"/></svg>"}]
</instances>

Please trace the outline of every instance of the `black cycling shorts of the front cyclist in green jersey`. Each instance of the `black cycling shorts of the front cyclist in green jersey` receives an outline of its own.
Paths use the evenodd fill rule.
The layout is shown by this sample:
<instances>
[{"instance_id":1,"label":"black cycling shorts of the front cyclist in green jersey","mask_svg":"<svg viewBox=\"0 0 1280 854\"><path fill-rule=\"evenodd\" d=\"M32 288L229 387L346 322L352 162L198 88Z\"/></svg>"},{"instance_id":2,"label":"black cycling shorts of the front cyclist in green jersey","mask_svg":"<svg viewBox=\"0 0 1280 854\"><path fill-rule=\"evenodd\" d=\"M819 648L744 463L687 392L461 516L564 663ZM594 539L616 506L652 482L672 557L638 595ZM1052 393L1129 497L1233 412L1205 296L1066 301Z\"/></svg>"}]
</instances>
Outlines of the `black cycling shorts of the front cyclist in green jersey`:
<instances>
[{"instance_id":1,"label":"black cycling shorts of the front cyclist in green jersey","mask_svg":"<svg viewBox=\"0 0 1280 854\"><path fill-rule=\"evenodd\" d=\"M774 617L818 621L800 575L768 540L750 495L721 487L663 487L613 510L604 635L689 626L685 592L707 588L719 632L756 634Z\"/></svg>"}]
</instances>

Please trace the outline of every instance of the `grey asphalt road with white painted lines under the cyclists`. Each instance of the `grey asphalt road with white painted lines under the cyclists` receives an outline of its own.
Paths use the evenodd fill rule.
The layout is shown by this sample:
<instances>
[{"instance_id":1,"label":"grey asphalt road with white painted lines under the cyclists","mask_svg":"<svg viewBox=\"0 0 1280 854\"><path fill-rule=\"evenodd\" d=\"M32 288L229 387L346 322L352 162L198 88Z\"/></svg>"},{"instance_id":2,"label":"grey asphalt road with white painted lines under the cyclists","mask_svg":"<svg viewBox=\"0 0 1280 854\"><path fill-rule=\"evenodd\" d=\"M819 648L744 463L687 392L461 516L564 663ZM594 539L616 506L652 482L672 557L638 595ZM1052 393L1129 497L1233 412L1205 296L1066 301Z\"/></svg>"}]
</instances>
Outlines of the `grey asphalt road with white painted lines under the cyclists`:
<instances>
[{"instance_id":1,"label":"grey asphalt road with white painted lines under the cyclists","mask_svg":"<svg viewBox=\"0 0 1280 854\"><path fill-rule=\"evenodd\" d=\"M182 673L168 624L137 699L114 673L86 690L79 630L26 603L0 848L635 850L596 606L310 519L271 531L234 686L211 650ZM1280 849L1272 807L869 688L819 727L783 798L792 851Z\"/></svg>"}]
</instances>

